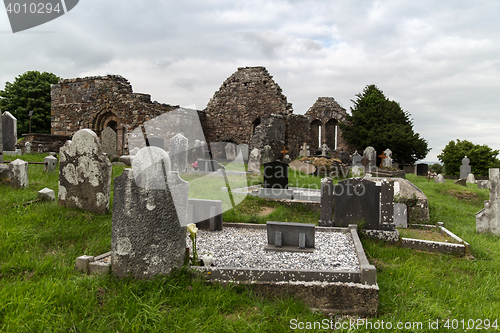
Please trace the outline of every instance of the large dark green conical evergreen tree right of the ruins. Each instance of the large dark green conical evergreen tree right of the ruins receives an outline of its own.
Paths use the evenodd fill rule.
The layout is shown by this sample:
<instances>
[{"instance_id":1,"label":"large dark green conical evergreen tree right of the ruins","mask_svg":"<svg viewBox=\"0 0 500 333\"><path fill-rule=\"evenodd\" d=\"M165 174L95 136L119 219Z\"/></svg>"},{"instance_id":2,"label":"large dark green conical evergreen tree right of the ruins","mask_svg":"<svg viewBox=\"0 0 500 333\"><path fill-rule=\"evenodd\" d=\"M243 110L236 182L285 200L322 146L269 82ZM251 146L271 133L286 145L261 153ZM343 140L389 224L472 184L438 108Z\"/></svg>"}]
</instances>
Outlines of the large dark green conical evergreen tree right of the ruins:
<instances>
[{"instance_id":1,"label":"large dark green conical evergreen tree right of the ruins","mask_svg":"<svg viewBox=\"0 0 500 333\"><path fill-rule=\"evenodd\" d=\"M427 141L413 132L410 114L399 103L387 99L373 84L356 97L352 115L340 124L348 144L362 149L372 146L378 152L389 148L393 160L400 164L413 164L427 155Z\"/></svg>"}]
</instances>

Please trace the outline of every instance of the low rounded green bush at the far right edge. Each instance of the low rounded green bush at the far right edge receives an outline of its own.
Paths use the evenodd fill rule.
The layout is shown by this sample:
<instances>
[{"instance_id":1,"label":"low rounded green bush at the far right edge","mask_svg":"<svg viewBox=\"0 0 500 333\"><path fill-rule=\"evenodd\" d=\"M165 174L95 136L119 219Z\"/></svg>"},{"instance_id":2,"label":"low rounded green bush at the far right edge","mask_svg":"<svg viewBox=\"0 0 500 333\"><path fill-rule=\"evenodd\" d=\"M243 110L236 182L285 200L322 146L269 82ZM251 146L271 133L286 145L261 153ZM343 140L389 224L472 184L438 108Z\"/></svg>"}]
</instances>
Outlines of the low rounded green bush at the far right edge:
<instances>
[{"instance_id":1,"label":"low rounded green bush at the far right edge","mask_svg":"<svg viewBox=\"0 0 500 333\"><path fill-rule=\"evenodd\" d=\"M476 176L488 176L490 168L498 168L500 161L496 158L498 150L492 150L487 145L476 145L467 140L450 141L444 147L438 159L443 162L446 174L457 176L460 174L462 159L467 156L470 160L471 171Z\"/></svg>"}]
</instances>

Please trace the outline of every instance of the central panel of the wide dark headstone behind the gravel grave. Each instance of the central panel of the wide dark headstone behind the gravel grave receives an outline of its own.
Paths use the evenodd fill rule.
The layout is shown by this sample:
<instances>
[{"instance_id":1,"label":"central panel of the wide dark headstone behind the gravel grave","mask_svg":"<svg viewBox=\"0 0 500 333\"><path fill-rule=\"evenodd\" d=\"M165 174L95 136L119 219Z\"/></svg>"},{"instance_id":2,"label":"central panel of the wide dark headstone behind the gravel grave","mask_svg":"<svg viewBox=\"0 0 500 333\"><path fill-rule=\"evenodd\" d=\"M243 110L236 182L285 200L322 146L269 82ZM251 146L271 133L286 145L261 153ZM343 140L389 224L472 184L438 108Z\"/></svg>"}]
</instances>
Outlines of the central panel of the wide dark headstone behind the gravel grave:
<instances>
[{"instance_id":1,"label":"central panel of the wide dark headstone behind the gravel grave","mask_svg":"<svg viewBox=\"0 0 500 333\"><path fill-rule=\"evenodd\" d=\"M342 180L334 188L336 227L364 222L364 229L379 229L380 187L360 178Z\"/></svg>"}]
</instances>

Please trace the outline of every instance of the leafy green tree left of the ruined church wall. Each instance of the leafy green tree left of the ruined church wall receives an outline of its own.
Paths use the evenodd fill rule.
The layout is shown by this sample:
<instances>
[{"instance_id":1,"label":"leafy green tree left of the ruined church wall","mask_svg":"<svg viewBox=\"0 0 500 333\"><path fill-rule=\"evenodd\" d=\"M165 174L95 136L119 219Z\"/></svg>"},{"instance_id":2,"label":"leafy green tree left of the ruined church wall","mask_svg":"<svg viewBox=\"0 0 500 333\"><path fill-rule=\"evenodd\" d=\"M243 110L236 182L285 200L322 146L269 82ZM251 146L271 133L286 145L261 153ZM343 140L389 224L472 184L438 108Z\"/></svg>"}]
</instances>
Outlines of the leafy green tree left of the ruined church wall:
<instances>
[{"instance_id":1,"label":"leafy green tree left of the ruined church wall","mask_svg":"<svg viewBox=\"0 0 500 333\"><path fill-rule=\"evenodd\" d=\"M31 133L50 133L50 85L59 80L53 73L28 71L0 90L0 109L17 118L19 137L29 132L31 110Z\"/></svg>"}]
</instances>

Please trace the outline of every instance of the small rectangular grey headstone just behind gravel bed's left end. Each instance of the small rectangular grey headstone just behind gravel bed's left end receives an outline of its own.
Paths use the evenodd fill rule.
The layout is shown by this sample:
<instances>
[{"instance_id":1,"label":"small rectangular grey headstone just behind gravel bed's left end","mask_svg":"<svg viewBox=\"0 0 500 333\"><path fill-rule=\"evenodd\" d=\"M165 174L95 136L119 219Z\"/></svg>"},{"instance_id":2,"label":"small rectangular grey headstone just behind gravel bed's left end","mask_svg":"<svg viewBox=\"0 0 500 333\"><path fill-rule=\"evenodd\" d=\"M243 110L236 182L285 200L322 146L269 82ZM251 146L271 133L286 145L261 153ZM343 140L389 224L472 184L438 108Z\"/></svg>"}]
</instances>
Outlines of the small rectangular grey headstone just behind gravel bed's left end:
<instances>
[{"instance_id":1,"label":"small rectangular grey headstone just behind gravel bed's left end","mask_svg":"<svg viewBox=\"0 0 500 333\"><path fill-rule=\"evenodd\" d=\"M222 201L189 199L187 219L188 224L195 223L198 229L222 230Z\"/></svg>"}]
</instances>

